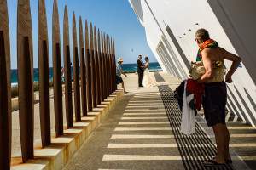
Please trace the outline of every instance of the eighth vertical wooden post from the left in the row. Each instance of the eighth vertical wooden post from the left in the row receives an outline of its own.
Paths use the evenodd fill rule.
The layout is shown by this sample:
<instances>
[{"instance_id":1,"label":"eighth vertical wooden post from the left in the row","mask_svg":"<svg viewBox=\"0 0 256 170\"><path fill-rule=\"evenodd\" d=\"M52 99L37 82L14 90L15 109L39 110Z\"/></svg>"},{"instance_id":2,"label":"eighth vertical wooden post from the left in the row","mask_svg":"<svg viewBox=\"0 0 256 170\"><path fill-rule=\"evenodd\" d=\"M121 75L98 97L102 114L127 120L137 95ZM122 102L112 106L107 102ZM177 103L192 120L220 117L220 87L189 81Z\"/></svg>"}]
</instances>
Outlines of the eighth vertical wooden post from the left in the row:
<instances>
[{"instance_id":1,"label":"eighth vertical wooden post from the left in the row","mask_svg":"<svg viewBox=\"0 0 256 170\"><path fill-rule=\"evenodd\" d=\"M86 50L86 80L87 80L88 111L92 111L90 48L89 48L89 31L88 31L87 20L85 20L85 50Z\"/></svg>"}]
</instances>

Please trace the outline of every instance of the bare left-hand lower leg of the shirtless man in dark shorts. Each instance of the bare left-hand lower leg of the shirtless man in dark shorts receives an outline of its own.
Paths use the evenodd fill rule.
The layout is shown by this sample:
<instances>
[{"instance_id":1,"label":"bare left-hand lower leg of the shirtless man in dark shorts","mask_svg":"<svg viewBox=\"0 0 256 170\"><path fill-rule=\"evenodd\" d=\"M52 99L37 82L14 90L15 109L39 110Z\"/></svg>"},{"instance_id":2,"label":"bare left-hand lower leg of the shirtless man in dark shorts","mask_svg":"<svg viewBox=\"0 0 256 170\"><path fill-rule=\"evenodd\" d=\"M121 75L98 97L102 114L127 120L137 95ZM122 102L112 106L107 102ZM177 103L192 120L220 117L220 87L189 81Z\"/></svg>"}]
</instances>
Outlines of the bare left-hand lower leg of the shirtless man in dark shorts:
<instances>
[{"instance_id":1,"label":"bare left-hand lower leg of the shirtless man in dark shorts","mask_svg":"<svg viewBox=\"0 0 256 170\"><path fill-rule=\"evenodd\" d=\"M225 135L224 135L224 126L222 124L216 124L212 126L213 132L215 134L216 144L217 144L217 151L218 154L216 157L213 158L213 161L216 161L220 164L224 164L224 144L225 144ZM211 162L204 162L205 164L212 164Z\"/></svg>"}]
</instances>

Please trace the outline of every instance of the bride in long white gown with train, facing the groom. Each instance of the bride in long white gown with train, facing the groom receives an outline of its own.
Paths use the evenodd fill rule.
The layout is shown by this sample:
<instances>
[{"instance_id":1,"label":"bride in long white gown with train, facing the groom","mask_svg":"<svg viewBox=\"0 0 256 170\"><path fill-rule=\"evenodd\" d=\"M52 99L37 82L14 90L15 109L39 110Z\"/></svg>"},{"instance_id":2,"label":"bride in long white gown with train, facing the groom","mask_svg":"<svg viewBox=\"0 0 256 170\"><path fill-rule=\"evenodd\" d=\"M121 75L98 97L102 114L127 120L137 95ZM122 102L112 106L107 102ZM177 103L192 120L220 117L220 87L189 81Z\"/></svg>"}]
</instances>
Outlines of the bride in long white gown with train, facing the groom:
<instances>
[{"instance_id":1,"label":"bride in long white gown with train, facing the groom","mask_svg":"<svg viewBox=\"0 0 256 170\"><path fill-rule=\"evenodd\" d=\"M156 82L154 77L150 76L148 67L149 67L149 59L148 57L145 57L146 64L143 66L144 69L144 75L143 75L143 87L145 88L151 88L155 86L162 86L162 85L168 85L168 82Z\"/></svg>"}]
</instances>

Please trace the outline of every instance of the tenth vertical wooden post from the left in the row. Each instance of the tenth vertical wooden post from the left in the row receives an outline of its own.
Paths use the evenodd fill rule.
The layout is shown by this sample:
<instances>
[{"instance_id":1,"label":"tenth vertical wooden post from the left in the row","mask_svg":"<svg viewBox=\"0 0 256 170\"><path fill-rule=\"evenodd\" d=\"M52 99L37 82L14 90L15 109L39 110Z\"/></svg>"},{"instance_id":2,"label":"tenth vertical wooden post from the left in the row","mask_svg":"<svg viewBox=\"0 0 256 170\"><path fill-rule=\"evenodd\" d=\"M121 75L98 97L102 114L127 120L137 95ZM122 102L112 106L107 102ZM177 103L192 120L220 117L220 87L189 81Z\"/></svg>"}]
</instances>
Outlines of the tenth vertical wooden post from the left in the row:
<instances>
[{"instance_id":1,"label":"tenth vertical wooden post from the left in the row","mask_svg":"<svg viewBox=\"0 0 256 170\"><path fill-rule=\"evenodd\" d=\"M95 64L96 64L96 105L101 104L101 92L100 92L100 65L99 65L99 54L97 45L97 32L96 26L94 26L94 48L95 48Z\"/></svg>"}]
</instances>

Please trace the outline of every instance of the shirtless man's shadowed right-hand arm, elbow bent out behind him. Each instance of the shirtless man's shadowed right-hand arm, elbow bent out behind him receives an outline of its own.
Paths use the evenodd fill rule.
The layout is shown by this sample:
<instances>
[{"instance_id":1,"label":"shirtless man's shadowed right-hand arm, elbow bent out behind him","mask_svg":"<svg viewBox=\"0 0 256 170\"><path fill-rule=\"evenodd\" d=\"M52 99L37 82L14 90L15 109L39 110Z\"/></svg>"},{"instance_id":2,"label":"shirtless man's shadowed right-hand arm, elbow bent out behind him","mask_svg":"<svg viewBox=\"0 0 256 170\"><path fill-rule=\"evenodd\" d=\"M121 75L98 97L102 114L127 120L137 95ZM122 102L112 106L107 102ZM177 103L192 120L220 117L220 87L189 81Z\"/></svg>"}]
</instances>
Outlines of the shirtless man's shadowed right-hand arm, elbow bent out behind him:
<instances>
[{"instance_id":1,"label":"shirtless man's shadowed right-hand arm, elbow bent out behind him","mask_svg":"<svg viewBox=\"0 0 256 170\"><path fill-rule=\"evenodd\" d=\"M230 67L230 71L228 71L228 73L226 74L226 78L225 78L226 82L231 83L231 82L233 82L231 76L234 74L234 72L238 68L238 66L241 62L241 58L235 54L231 54L230 52L226 51L224 48L221 48L221 50L223 51L224 59L233 61L232 65Z\"/></svg>"}]
</instances>

